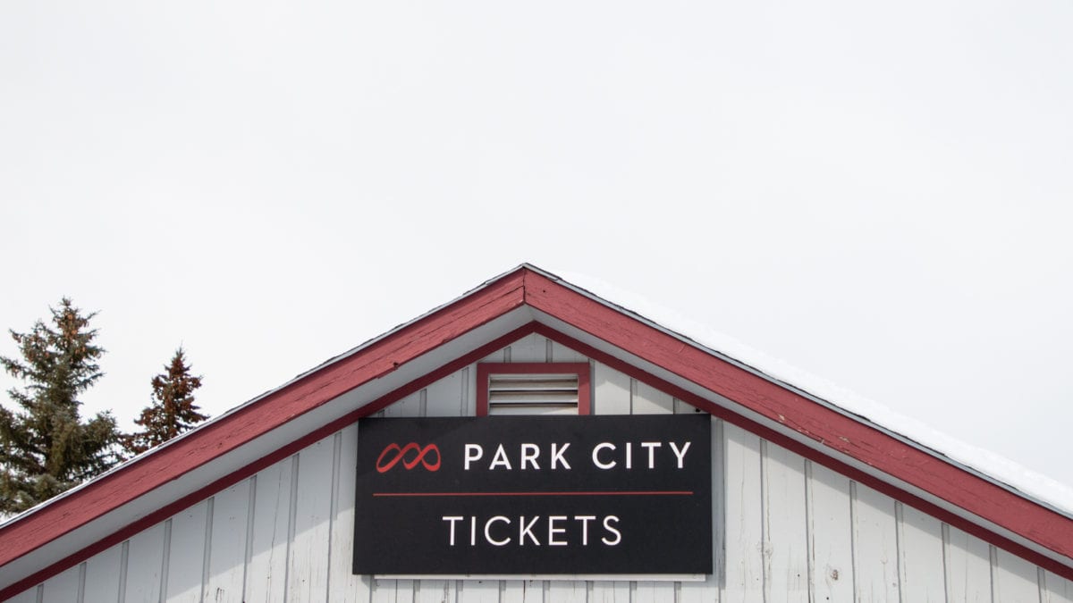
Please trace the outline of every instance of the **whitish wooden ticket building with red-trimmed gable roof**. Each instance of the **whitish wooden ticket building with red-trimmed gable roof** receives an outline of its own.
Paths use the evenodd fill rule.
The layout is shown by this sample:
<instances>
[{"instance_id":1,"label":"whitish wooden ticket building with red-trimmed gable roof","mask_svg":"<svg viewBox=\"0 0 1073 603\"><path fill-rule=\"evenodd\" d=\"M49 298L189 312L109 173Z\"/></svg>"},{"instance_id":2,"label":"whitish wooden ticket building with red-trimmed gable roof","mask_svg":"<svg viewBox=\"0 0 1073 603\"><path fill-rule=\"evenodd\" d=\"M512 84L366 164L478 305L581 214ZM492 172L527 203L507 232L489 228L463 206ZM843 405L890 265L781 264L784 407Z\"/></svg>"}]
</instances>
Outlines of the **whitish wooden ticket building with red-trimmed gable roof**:
<instances>
[{"instance_id":1,"label":"whitish wooden ticket building with red-trimmed gable roof","mask_svg":"<svg viewBox=\"0 0 1073 603\"><path fill-rule=\"evenodd\" d=\"M1073 518L837 402L523 265L0 526L0 600L1073 601ZM596 438L574 446L589 445L591 455L559 459L596 476L556 485L569 473L554 467L565 443L545 450L541 422L548 420L532 413L596 415L555 423L573 426L572 435L550 440ZM486 418L498 414L514 416ZM662 420L638 415L689 416L667 420L677 423L662 432L666 439L643 441L630 429L659 430ZM363 421L380 416L472 418ZM686 436L676 440L674 430L687 423L710 439L710 448L690 448L705 454L689 456ZM489 442L516 442L498 426L520 425L521 441L532 442L505 457L494 443L481 452L458 442L449 448L450 435L413 450L405 440L368 443L377 441L377 426L444 424L469 429L464 440ZM430 441L440 443L435 459ZM359 446L372 446L361 453L365 460ZM449 465L456 471L462 461L452 453L462 450L472 470L466 475L500 484L510 474L533 488L514 497L518 508L510 506L512 492L467 492L509 510L480 519L442 502L460 490L409 492L444 511L436 506L433 527L399 542L450 550L443 564L464 573L443 575L435 562L420 561L421 551L391 548L394 536L361 535L395 526L394 510L411 509L405 498L376 509L371 498L355 502L368 480L447 475ZM710 501L689 499L704 500L700 517L687 515L695 504L674 506L694 495L692 485L656 491L645 481L677 480L674 469L694 460L707 472L696 496L710 488ZM444 473L433 473L441 461ZM623 469L630 462L634 473ZM640 485L622 486L636 491L609 492L613 468L623 479L640 475ZM600 487L576 487L589 480ZM563 491L550 496L547 488ZM527 498L535 490L574 511L562 520L540 511ZM563 494L573 498L557 498ZM571 501L583 494L623 510L656 505L641 511L650 519L645 526L628 521L626 511L602 512L601 524L597 514L591 521L577 515ZM533 517L541 524L527 534ZM679 545L601 561L642 532ZM591 548L577 549L580 539ZM568 567L576 571L561 571L557 550L574 556ZM382 560L389 563L376 567L394 569L352 572L355 563ZM627 564L629 573L616 572Z\"/></svg>"}]
</instances>

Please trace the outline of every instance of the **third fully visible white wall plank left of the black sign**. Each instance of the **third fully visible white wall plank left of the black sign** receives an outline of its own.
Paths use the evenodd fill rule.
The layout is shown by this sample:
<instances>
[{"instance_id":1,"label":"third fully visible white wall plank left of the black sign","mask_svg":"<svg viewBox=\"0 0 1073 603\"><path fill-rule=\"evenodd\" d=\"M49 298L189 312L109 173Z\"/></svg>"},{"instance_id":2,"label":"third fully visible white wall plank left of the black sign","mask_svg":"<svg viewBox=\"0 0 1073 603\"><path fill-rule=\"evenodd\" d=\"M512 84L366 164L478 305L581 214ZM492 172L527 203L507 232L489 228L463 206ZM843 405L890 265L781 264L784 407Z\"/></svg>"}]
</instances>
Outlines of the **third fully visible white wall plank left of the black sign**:
<instances>
[{"instance_id":1,"label":"third fully visible white wall plank left of the black sign","mask_svg":"<svg viewBox=\"0 0 1073 603\"><path fill-rule=\"evenodd\" d=\"M212 501L208 579L204 601L241 603L246 571L246 533L250 510L250 480L218 492Z\"/></svg>"}]
</instances>

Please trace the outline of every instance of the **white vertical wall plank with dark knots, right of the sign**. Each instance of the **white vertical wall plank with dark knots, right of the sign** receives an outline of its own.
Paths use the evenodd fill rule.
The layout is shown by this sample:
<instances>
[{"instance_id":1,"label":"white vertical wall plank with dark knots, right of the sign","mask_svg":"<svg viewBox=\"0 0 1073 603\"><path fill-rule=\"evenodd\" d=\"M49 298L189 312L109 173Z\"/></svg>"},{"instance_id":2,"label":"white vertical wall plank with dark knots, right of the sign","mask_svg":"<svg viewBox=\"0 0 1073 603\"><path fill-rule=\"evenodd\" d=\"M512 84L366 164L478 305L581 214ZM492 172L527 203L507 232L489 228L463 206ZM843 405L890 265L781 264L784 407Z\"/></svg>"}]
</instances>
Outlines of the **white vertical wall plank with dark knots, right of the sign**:
<instances>
[{"instance_id":1,"label":"white vertical wall plank with dark knots, right of the sign","mask_svg":"<svg viewBox=\"0 0 1073 603\"><path fill-rule=\"evenodd\" d=\"M850 480L813 462L807 471L810 588L815 601L852 601Z\"/></svg>"}]
</instances>

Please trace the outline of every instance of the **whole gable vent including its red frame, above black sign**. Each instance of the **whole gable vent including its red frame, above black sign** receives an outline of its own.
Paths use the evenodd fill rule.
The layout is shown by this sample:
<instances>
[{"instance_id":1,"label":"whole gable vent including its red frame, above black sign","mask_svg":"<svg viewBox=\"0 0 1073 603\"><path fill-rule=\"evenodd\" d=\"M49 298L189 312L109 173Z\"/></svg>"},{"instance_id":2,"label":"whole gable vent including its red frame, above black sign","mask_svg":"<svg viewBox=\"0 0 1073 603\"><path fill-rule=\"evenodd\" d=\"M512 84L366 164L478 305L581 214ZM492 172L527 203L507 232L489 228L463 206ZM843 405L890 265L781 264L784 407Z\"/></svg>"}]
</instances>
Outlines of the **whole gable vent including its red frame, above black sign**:
<instances>
[{"instance_id":1,"label":"whole gable vent including its red frame, above black sign","mask_svg":"<svg viewBox=\"0 0 1073 603\"><path fill-rule=\"evenodd\" d=\"M477 415L588 414L588 363L477 365Z\"/></svg>"}]
</instances>

